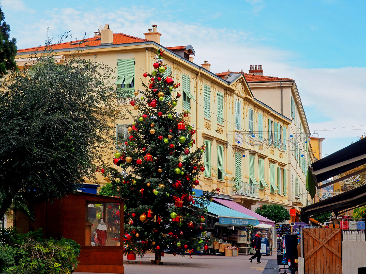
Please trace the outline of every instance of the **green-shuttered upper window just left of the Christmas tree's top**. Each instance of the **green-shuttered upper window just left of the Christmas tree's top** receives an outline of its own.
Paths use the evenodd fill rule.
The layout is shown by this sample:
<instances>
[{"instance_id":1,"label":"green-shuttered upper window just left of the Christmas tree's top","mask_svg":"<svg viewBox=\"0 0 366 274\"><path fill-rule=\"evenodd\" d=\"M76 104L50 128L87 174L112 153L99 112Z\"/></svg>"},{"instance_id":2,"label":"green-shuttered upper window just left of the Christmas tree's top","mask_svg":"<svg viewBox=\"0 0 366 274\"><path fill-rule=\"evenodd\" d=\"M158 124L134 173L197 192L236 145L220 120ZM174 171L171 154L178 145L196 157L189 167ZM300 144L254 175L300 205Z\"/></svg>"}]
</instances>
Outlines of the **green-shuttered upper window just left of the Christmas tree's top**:
<instances>
[{"instance_id":1,"label":"green-shuttered upper window just left of the Christmas tree's top","mask_svg":"<svg viewBox=\"0 0 366 274\"><path fill-rule=\"evenodd\" d=\"M135 59L117 60L118 96L133 96L135 91Z\"/></svg>"}]
</instances>

